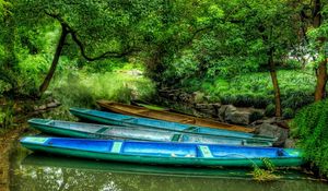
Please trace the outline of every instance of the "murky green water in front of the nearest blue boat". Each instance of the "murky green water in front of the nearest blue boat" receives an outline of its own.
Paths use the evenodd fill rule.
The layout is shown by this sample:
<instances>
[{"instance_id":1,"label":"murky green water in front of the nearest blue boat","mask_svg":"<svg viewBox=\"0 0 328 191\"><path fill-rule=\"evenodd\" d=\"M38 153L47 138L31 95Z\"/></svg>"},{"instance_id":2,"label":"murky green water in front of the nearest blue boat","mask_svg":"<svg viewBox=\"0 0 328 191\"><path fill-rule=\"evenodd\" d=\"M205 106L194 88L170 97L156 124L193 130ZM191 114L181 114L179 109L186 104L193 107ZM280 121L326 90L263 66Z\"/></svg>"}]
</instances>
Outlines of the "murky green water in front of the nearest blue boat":
<instances>
[{"instance_id":1,"label":"murky green water in front of the nearest blue boat","mask_svg":"<svg viewBox=\"0 0 328 191\"><path fill-rule=\"evenodd\" d=\"M14 191L328 191L328 183L300 171L281 171L280 180L256 182L249 170L183 168L104 163L32 154L19 144L11 159Z\"/></svg>"}]
</instances>

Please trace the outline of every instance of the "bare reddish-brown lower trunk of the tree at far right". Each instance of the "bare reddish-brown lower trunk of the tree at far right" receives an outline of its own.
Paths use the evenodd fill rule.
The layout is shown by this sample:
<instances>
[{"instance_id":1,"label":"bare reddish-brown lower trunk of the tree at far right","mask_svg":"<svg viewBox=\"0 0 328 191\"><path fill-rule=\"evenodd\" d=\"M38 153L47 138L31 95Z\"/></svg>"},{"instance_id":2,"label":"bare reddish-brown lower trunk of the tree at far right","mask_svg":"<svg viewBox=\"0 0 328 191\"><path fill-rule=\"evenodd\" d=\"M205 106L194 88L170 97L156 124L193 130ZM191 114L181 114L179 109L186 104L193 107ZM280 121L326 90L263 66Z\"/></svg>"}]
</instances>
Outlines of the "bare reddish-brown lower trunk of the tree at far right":
<instances>
[{"instance_id":1,"label":"bare reddish-brown lower trunk of the tree at far right","mask_svg":"<svg viewBox=\"0 0 328 191\"><path fill-rule=\"evenodd\" d=\"M317 85L315 92L315 102L321 100L325 97L326 84L327 84L327 59L323 60L319 63L317 70Z\"/></svg>"}]
</instances>

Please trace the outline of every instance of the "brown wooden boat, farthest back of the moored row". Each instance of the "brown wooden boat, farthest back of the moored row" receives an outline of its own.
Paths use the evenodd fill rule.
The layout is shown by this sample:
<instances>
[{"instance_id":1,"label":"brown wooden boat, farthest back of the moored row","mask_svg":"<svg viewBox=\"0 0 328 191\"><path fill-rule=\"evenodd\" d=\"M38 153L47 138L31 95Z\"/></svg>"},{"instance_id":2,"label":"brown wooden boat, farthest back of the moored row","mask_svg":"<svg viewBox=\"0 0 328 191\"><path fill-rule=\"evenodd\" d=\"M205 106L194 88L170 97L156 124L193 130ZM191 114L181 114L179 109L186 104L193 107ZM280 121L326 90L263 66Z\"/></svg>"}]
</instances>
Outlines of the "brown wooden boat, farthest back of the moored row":
<instances>
[{"instance_id":1,"label":"brown wooden boat, farthest back of the moored row","mask_svg":"<svg viewBox=\"0 0 328 191\"><path fill-rule=\"evenodd\" d=\"M242 132L254 132L254 128L246 128L235 124L227 124L223 122L218 122L211 119L197 118L194 116L175 114L164 110L154 110L144 107L131 106L126 104L113 103L108 100L97 100L97 104L106 110L118 112L122 115L130 115L143 118L160 119L172 122L187 123L192 126L201 126L207 128L214 129L225 129L232 131L242 131Z\"/></svg>"}]
</instances>

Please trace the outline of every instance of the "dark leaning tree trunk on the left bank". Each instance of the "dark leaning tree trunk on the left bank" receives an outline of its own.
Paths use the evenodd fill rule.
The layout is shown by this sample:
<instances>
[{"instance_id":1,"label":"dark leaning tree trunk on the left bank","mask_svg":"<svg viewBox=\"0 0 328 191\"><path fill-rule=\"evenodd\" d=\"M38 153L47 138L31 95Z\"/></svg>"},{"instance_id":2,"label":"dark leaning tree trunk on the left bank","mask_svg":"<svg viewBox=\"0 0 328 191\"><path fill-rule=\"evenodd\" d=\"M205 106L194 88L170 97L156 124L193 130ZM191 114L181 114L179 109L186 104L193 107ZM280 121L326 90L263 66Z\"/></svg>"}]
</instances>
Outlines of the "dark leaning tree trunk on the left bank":
<instances>
[{"instance_id":1,"label":"dark leaning tree trunk on the left bank","mask_svg":"<svg viewBox=\"0 0 328 191\"><path fill-rule=\"evenodd\" d=\"M55 52L55 56L54 56L54 59L52 59L52 62L51 62L51 67L48 71L48 74L47 76L45 77L43 84L39 86L39 93L43 94L49 86L50 84L50 81L55 74L55 71L56 71L56 68L57 68L57 64L58 64L58 61L59 61L59 57L60 57L60 53L61 53L61 50L63 48L63 45L65 45L65 40L66 40L66 37L67 35L69 34L69 31L67 29L67 26L61 24L61 35L60 35L60 38L59 38L59 41L58 41L58 45L57 45L57 48L56 48L56 52Z\"/></svg>"}]
</instances>

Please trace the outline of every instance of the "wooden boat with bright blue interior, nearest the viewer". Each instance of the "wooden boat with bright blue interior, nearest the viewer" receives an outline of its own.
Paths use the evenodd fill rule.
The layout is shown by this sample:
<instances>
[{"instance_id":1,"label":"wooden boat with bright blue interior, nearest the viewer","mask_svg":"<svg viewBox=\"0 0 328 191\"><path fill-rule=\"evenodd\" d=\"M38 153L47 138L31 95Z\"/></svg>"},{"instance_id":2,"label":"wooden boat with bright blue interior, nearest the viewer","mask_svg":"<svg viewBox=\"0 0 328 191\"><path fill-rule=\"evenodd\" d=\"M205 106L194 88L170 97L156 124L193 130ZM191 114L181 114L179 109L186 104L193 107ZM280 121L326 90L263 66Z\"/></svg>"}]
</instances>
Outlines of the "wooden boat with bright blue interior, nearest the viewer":
<instances>
[{"instance_id":1,"label":"wooden boat with bright blue interior, nearest the viewer","mask_svg":"<svg viewBox=\"0 0 328 191\"><path fill-rule=\"evenodd\" d=\"M293 148L42 136L25 136L21 144L36 152L155 165L254 167L263 166L263 158L276 167L303 164Z\"/></svg>"}]
</instances>

